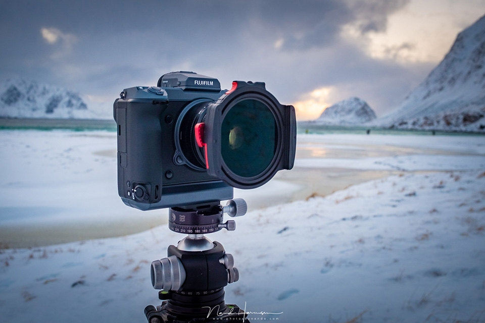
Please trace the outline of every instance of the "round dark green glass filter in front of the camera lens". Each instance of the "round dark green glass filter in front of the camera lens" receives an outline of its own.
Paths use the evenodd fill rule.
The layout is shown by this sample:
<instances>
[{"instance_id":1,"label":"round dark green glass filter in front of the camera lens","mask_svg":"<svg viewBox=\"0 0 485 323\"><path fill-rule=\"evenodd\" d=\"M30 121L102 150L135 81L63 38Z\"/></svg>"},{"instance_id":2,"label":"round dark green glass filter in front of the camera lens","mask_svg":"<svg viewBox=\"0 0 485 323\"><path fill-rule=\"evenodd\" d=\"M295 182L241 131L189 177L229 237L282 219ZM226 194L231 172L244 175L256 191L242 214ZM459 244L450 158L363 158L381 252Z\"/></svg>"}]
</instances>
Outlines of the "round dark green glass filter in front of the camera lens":
<instances>
[{"instance_id":1,"label":"round dark green glass filter in front of the camera lens","mask_svg":"<svg viewBox=\"0 0 485 323\"><path fill-rule=\"evenodd\" d=\"M276 120L269 107L255 98L236 102L223 115L221 155L240 177L263 173L276 152Z\"/></svg>"}]
</instances>

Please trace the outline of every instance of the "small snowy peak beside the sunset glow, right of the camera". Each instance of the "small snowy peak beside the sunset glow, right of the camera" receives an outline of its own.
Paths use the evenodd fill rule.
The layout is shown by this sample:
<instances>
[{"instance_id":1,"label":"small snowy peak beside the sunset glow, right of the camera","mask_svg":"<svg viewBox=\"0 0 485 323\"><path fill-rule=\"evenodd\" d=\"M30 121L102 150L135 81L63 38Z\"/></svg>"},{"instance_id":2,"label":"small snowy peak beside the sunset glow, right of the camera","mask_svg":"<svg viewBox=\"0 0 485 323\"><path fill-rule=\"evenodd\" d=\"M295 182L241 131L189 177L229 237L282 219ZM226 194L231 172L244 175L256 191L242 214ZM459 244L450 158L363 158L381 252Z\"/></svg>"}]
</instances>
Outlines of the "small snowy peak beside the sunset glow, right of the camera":
<instances>
[{"instance_id":1,"label":"small snowy peak beside the sunset glow, right of the camera","mask_svg":"<svg viewBox=\"0 0 485 323\"><path fill-rule=\"evenodd\" d=\"M374 120L371 107L358 97L350 97L327 107L315 123L321 125L362 125Z\"/></svg>"}]
</instances>

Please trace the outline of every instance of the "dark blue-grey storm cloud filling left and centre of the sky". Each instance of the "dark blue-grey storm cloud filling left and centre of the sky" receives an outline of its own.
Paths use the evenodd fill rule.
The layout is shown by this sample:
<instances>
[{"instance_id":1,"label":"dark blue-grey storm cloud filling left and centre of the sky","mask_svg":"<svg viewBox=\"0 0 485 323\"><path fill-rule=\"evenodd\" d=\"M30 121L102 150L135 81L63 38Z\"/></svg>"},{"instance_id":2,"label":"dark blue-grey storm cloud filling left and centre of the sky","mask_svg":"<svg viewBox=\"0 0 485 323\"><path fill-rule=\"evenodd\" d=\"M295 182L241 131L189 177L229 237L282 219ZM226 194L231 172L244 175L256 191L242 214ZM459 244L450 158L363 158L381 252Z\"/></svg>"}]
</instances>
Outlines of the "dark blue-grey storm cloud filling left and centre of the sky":
<instances>
[{"instance_id":1,"label":"dark blue-grey storm cloud filling left and centre of the sky","mask_svg":"<svg viewBox=\"0 0 485 323\"><path fill-rule=\"evenodd\" d=\"M217 77L226 87L234 79L264 80L285 103L319 86L351 88L393 73L399 73L401 85L409 84L414 72L372 60L341 37L349 24L362 34L385 30L387 16L406 3L3 2L0 75L116 97L125 87L150 85L163 73L189 69ZM49 32L59 33L56 41ZM379 89L373 91L378 97ZM384 92L378 104L389 103L386 98Z\"/></svg>"}]
</instances>

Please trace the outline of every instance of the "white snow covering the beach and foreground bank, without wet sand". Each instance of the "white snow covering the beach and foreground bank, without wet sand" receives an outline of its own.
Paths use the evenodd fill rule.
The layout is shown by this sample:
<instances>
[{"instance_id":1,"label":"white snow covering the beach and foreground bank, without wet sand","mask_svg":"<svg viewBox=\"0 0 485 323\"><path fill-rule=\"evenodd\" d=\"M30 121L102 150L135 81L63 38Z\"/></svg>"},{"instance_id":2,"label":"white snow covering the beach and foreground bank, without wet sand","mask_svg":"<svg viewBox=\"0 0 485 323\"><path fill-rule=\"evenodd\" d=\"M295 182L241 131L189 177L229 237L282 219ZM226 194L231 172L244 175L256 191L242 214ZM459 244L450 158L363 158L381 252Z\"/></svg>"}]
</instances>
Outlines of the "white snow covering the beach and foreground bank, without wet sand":
<instances>
[{"instance_id":1,"label":"white snow covering the beach and foreground bank, without wet sand","mask_svg":"<svg viewBox=\"0 0 485 323\"><path fill-rule=\"evenodd\" d=\"M105 183L116 172L106 148L112 134L96 133L90 146L82 136L0 132L0 229L18 228L19 221L30 228L69 222L61 217L66 209L77 209L73 221L92 229L93 219L123 221L129 208L105 193L116 192L116 183ZM300 136L300 158L288 174L347 167L396 175L253 209L237 218L236 231L209 235L234 255L241 274L226 287L226 302L283 312L251 314L251 321L485 322L484 144L475 136ZM90 181L106 187L92 190ZM301 183L270 185L265 194L274 196ZM245 194L254 198L235 192ZM28 217L29 208L43 207L45 214ZM0 321L145 321L143 308L158 303L149 265L181 238L162 225L118 238L0 250Z\"/></svg>"}]
</instances>

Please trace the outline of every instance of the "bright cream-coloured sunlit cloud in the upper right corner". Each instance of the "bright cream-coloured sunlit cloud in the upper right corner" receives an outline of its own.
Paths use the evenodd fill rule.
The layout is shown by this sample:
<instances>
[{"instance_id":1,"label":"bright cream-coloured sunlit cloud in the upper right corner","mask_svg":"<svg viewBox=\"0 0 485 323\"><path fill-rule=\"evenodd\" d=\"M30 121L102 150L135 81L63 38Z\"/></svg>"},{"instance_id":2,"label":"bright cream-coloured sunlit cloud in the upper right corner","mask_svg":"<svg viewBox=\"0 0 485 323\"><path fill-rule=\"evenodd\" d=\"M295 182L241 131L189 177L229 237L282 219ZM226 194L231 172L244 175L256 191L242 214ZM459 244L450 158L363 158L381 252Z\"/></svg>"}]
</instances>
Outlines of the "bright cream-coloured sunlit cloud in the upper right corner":
<instances>
[{"instance_id":1,"label":"bright cream-coloured sunlit cloud in the upper right corner","mask_svg":"<svg viewBox=\"0 0 485 323\"><path fill-rule=\"evenodd\" d=\"M357 10L363 3L362 10ZM454 0L368 0L352 8L356 19L343 28L342 36L372 59L410 66L438 64L456 35L483 13L485 0L459 4ZM374 10L381 14L372 14Z\"/></svg>"}]
</instances>

